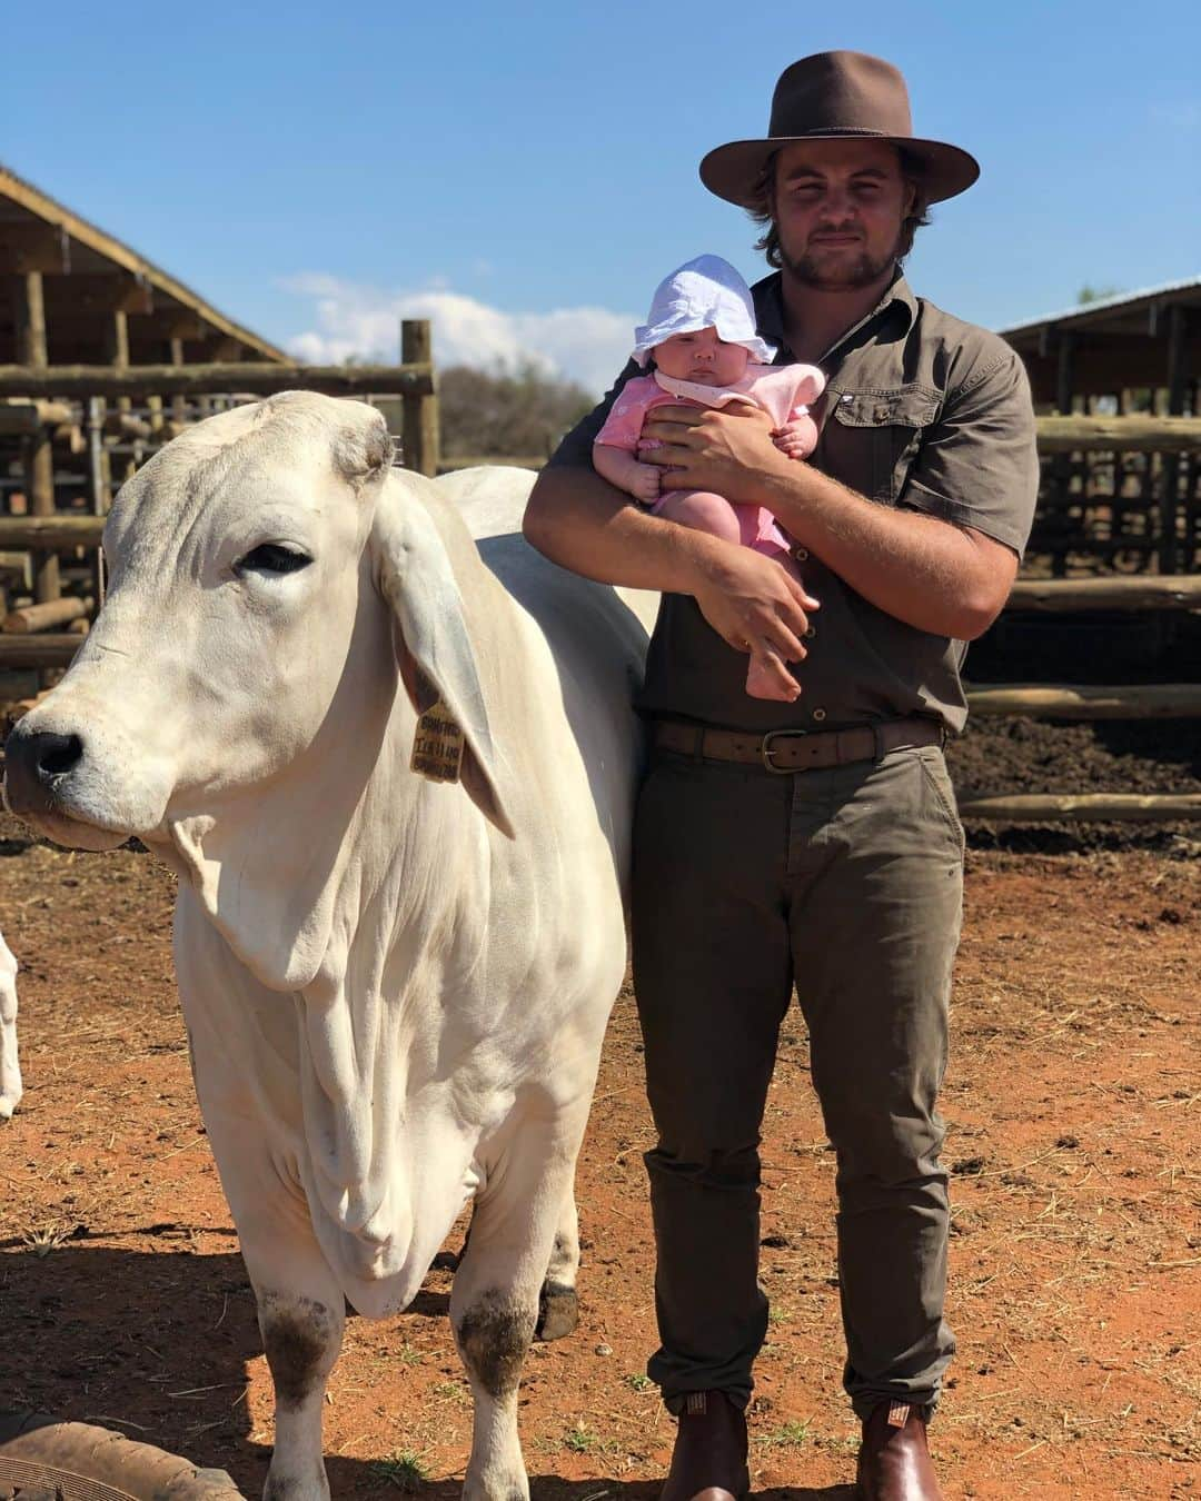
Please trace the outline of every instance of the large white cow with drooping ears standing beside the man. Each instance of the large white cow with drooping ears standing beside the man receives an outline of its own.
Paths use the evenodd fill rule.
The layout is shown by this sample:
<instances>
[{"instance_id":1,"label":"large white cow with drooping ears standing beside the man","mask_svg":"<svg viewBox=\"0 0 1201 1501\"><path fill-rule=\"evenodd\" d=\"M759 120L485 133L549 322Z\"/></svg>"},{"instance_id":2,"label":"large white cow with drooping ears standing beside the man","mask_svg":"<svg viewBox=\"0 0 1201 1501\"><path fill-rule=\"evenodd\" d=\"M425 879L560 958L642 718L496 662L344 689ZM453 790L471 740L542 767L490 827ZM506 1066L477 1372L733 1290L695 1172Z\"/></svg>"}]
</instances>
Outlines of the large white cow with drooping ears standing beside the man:
<instances>
[{"instance_id":1,"label":"large white cow with drooping ears standing beside the man","mask_svg":"<svg viewBox=\"0 0 1201 1501\"><path fill-rule=\"evenodd\" d=\"M197 1091L276 1390L266 1495L329 1495L344 1295L404 1309L474 1196L450 1298L465 1495L513 1501L525 1348L575 1322L647 620L519 537L485 566L459 510L512 533L530 474L389 461L378 413L299 392L153 458L105 530L104 611L9 738L8 796L180 877ZM414 746L452 775L461 750L458 781Z\"/></svg>"}]
</instances>

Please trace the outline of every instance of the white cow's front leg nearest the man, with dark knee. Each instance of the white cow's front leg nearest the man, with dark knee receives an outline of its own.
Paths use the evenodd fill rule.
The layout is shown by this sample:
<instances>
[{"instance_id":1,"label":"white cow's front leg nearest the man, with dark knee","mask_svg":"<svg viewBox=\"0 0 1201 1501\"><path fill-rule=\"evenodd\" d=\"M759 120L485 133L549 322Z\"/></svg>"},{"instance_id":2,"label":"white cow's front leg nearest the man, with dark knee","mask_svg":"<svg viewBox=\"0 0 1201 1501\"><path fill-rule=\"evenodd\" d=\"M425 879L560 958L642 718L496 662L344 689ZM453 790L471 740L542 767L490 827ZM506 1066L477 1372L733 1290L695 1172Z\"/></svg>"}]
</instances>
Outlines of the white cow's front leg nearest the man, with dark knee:
<instances>
[{"instance_id":1,"label":"white cow's front leg nearest the man, with dark knee","mask_svg":"<svg viewBox=\"0 0 1201 1501\"><path fill-rule=\"evenodd\" d=\"M489 1174L471 1217L450 1292L450 1322L476 1399L464 1501L524 1501L530 1493L516 1393L581 1135L582 1120L554 1142L527 1126Z\"/></svg>"}]
</instances>

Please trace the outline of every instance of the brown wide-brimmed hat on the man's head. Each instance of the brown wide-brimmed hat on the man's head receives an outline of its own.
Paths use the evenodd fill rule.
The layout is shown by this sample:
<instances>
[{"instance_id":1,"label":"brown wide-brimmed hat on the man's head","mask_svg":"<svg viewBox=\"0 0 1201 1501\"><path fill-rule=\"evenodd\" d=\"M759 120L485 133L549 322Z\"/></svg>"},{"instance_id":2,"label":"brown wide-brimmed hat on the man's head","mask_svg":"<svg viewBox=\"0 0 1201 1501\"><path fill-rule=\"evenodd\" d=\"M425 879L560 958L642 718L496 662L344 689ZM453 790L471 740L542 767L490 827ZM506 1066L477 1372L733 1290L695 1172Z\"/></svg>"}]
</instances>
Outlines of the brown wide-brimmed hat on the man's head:
<instances>
[{"instance_id":1,"label":"brown wide-brimmed hat on the man's head","mask_svg":"<svg viewBox=\"0 0 1201 1501\"><path fill-rule=\"evenodd\" d=\"M781 74L767 138L715 147L701 162L701 182L719 198L752 209L775 152L797 141L842 137L899 147L919 170L929 203L953 198L980 176L980 164L958 146L913 134L908 89L892 63L866 53L814 53Z\"/></svg>"}]
</instances>

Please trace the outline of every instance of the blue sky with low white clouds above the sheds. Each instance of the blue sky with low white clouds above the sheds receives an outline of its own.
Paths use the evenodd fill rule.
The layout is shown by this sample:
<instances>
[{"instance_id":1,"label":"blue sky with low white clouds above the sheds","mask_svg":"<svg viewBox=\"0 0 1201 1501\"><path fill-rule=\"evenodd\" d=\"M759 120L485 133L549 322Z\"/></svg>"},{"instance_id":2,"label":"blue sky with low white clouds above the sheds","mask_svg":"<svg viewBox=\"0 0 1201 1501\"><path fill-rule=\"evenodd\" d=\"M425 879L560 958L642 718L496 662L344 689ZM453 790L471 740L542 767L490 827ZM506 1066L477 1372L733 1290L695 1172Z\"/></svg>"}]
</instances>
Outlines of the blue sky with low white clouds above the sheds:
<instances>
[{"instance_id":1,"label":"blue sky with low white clouds above the sheds","mask_svg":"<svg viewBox=\"0 0 1201 1501\"><path fill-rule=\"evenodd\" d=\"M1195 0L844 11L12 6L0 162L303 357L395 357L407 312L443 362L525 351L596 387L674 266L760 275L697 164L766 134L784 66L850 47L983 165L919 236L920 294L1003 327L1201 275Z\"/></svg>"}]
</instances>

